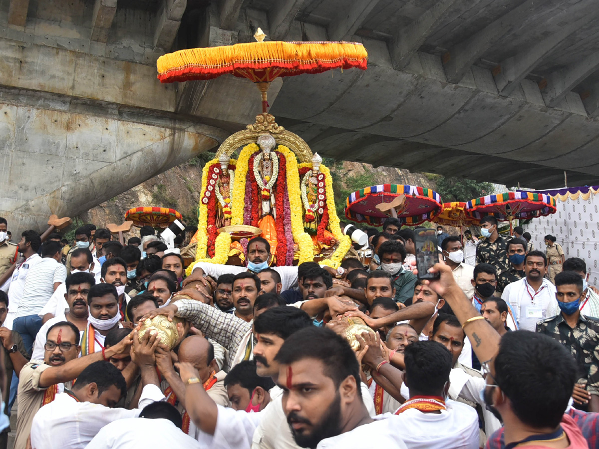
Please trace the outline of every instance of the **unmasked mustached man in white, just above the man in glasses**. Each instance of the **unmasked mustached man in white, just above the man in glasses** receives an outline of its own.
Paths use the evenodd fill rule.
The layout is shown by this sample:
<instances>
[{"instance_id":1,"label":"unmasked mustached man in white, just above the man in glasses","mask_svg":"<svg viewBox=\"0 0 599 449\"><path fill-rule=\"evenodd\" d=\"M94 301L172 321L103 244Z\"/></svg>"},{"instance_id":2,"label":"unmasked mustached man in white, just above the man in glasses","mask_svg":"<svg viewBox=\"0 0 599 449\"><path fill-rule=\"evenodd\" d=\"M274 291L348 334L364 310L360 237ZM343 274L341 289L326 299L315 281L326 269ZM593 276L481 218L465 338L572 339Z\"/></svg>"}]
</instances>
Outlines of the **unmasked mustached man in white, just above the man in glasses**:
<instances>
[{"instance_id":1,"label":"unmasked mustached man in white, just above the man in glasses","mask_svg":"<svg viewBox=\"0 0 599 449\"><path fill-rule=\"evenodd\" d=\"M40 332L35 337L34 351L31 358L34 360L44 360L44 345L46 344L46 333L50 327L60 321L68 321L75 324L80 332L87 327L87 294L89 289L95 285L96 281L93 274L79 272L66 277L64 298L68 310L62 310L55 318L50 318L41 327Z\"/></svg>"}]
</instances>

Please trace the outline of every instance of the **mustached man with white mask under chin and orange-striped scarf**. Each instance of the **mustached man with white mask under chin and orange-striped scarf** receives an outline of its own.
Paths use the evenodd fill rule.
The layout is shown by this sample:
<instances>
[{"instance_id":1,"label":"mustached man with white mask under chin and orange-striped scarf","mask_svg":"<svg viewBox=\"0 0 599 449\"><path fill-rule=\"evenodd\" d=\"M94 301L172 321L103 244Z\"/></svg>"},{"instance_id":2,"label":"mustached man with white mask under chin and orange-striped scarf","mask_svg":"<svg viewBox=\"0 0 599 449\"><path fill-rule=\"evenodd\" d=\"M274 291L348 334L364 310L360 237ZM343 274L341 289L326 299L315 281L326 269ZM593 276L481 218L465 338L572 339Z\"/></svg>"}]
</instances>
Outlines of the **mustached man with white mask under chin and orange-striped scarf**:
<instances>
[{"instance_id":1,"label":"mustached man with white mask under chin and orange-striped scarf","mask_svg":"<svg viewBox=\"0 0 599 449\"><path fill-rule=\"evenodd\" d=\"M122 327L117 301L118 293L113 284L98 284L89 289L87 293L89 315L87 315L87 326L81 335L82 356L104 352L104 340L108 332Z\"/></svg>"}]
</instances>

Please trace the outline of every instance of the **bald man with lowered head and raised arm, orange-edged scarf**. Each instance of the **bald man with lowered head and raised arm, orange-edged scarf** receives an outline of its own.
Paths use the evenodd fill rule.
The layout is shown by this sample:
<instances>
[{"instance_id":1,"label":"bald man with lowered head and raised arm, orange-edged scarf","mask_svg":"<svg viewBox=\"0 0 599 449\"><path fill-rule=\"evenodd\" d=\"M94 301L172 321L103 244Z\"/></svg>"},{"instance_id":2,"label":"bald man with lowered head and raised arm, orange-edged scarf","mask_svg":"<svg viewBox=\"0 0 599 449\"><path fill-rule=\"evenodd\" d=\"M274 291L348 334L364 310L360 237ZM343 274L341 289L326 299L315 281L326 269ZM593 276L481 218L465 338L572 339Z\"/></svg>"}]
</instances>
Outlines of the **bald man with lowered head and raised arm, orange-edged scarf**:
<instances>
[{"instance_id":1,"label":"bald man with lowered head and raised arm, orange-edged scarf","mask_svg":"<svg viewBox=\"0 0 599 449\"><path fill-rule=\"evenodd\" d=\"M214 360L214 347L207 339L199 335L190 335L179 345L179 362L191 363L198 370L199 380L208 396L218 405L228 407L229 396L225 388L226 373L219 370ZM192 438L198 438L199 432L190 422L185 411L185 384L174 371L171 353L162 348L156 352L156 365L162 374L161 389L167 402L177 407L183 417L183 432Z\"/></svg>"}]
</instances>

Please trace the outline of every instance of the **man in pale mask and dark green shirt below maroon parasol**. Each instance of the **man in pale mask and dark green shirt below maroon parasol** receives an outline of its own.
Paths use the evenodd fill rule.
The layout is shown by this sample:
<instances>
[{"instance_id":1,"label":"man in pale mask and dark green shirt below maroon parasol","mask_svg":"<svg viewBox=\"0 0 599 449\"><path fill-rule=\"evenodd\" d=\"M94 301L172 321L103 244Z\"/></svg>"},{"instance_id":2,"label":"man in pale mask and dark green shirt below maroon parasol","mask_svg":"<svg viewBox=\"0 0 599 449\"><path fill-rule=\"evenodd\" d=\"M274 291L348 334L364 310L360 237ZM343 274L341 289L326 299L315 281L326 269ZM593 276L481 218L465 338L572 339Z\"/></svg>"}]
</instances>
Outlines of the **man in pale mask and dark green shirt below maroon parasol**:
<instances>
[{"instance_id":1,"label":"man in pale mask and dark green shirt below maroon parasol","mask_svg":"<svg viewBox=\"0 0 599 449\"><path fill-rule=\"evenodd\" d=\"M395 289L395 302L406 302L414 295L418 278L403 268L406 248L400 242L386 241L379 248L380 269L391 275Z\"/></svg>"}]
</instances>

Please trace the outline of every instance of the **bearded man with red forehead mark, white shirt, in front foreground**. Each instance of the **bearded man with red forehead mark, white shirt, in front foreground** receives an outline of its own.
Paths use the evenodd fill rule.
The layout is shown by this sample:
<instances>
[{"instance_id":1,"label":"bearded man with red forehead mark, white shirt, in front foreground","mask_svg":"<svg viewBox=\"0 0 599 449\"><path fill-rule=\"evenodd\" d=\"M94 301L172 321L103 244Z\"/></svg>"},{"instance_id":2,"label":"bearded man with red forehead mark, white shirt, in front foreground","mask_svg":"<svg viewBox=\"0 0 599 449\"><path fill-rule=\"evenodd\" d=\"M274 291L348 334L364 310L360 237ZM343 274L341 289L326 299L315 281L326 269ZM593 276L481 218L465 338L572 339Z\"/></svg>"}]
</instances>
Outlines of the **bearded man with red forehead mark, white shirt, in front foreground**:
<instances>
[{"instance_id":1,"label":"bearded man with red forehead mark, white shirt, in front foreground","mask_svg":"<svg viewBox=\"0 0 599 449\"><path fill-rule=\"evenodd\" d=\"M307 327L285 340L275 357L277 385L295 442L301 447L406 448L400 417L370 417L362 401L360 369L347 340ZM389 365L386 363L386 365Z\"/></svg>"}]
</instances>

